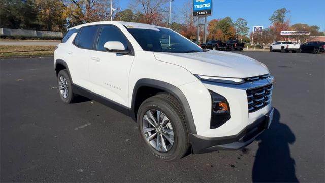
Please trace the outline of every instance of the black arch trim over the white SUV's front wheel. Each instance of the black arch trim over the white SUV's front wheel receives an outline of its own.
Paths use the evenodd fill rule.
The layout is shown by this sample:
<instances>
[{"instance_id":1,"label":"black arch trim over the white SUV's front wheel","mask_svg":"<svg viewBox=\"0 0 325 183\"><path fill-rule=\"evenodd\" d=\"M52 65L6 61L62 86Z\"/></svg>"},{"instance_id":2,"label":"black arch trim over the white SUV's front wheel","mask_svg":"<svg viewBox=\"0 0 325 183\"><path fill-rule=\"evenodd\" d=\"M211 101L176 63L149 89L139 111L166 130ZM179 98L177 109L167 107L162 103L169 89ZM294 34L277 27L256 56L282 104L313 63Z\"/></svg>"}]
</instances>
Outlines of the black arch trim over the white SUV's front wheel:
<instances>
[{"instance_id":1,"label":"black arch trim over the white SUV's front wheel","mask_svg":"<svg viewBox=\"0 0 325 183\"><path fill-rule=\"evenodd\" d=\"M176 86L174 86L172 84L164 82L164 81L159 81L159 80L155 80L155 79L147 79L147 78L140 79L137 81L137 83L135 84L135 87L133 89L132 100L131 100L131 104L132 104L131 105L131 110L132 110L131 117L133 119L136 119L136 114L135 114L136 99L135 99L135 97L137 95L138 89L143 86L148 86L148 87L153 87L153 88L157 88L160 90L164 90L165 92L168 92L171 95L173 95L180 102L180 105L182 106L182 110L185 115L185 123L186 123L187 130L189 131L190 134L197 134L192 111L190 109L190 106L188 104L188 101L187 101L185 95L179 88L177 88Z\"/></svg>"}]
</instances>

